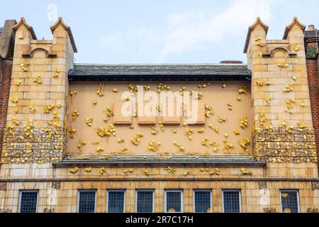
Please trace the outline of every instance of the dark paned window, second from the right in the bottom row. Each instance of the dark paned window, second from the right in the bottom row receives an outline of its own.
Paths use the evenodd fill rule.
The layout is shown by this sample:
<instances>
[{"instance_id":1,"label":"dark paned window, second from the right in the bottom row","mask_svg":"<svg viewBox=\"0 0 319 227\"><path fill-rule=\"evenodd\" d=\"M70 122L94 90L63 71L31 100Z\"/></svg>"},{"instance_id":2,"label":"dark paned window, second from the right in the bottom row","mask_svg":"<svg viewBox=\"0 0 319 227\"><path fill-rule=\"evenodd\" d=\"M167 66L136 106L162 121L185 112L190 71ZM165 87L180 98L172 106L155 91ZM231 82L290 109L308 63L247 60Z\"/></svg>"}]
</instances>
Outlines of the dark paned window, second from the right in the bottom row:
<instances>
[{"instance_id":1,"label":"dark paned window, second from the right in the bottom row","mask_svg":"<svg viewBox=\"0 0 319 227\"><path fill-rule=\"evenodd\" d=\"M240 213L240 191L223 190L223 212Z\"/></svg>"}]
</instances>

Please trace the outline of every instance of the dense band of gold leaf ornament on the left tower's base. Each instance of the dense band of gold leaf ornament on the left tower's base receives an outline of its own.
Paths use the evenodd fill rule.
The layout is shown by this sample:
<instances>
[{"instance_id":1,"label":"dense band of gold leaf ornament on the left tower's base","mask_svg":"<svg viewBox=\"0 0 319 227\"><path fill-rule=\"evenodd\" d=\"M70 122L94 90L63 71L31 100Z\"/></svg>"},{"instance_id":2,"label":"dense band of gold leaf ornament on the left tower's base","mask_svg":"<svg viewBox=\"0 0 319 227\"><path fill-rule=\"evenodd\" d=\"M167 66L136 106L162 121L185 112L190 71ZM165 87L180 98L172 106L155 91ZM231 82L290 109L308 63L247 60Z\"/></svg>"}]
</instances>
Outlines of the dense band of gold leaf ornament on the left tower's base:
<instances>
[{"instance_id":1,"label":"dense band of gold leaf ornament on the left tower's base","mask_svg":"<svg viewBox=\"0 0 319 227\"><path fill-rule=\"evenodd\" d=\"M6 128L1 164L59 162L64 150L65 132L61 127Z\"/></svg>"}]
</instances>

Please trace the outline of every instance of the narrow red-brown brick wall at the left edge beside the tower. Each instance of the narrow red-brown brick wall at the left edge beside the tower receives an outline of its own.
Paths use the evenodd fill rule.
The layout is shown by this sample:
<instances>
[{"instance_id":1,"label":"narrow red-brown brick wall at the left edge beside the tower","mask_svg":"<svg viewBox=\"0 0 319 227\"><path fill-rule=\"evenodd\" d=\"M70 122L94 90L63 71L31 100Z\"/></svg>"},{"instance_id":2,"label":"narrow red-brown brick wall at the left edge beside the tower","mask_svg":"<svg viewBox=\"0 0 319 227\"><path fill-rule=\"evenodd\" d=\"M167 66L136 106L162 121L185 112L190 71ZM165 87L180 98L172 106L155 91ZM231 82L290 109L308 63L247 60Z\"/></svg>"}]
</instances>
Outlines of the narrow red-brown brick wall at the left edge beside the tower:
<instances>
[{"instance_id":1,"label":"narrow red-brown brick wall at the left edge beside the tower","mask_svg":"<svg viewBox=\"0 0 319 227\"><path fill-rule=\"evenodd\" d=\"M9 92L11 84L12 60L2 60L0 57L0 155L2 150L2 140L4 128L6 127L6 113L8 110Z\"/></svg>"}]
</instances>

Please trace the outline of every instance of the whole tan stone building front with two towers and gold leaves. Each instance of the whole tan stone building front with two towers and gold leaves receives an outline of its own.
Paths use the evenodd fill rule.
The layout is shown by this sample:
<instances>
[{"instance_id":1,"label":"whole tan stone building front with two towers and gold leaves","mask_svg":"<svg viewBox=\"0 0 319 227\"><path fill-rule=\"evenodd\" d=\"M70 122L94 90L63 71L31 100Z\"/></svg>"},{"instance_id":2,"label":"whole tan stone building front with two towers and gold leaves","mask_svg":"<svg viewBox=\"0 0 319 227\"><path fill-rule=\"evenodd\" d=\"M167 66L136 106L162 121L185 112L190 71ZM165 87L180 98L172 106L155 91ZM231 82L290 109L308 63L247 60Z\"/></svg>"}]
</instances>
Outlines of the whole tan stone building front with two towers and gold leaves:
<instances>
[{"instance_id":1,"label":"whole tan stone building front with two towers and gold leaves","mask_svg":"<svg viewBox=\"0 0 319 227\"><path fill-rule=\"evenodd\" d=\"M76 65L62 18L13 31L1 211L318 212L297 18L281 40L257 18L247 65Z\"/></svg>"}]
</instances>

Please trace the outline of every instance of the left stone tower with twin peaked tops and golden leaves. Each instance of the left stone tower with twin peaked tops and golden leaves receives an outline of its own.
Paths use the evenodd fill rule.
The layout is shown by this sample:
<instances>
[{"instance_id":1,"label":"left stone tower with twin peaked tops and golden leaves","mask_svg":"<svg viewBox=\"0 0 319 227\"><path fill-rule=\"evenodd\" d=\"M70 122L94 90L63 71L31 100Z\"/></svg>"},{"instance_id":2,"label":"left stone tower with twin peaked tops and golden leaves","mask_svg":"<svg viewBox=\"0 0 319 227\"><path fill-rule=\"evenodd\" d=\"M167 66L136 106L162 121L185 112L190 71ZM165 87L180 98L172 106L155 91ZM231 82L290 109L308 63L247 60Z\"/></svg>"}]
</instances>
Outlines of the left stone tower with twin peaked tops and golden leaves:
<instances>
[{"instance_id":1,"label":"left stone tower with twin peaked tops and golden leaves","mask_svg":"<svg viewBox=\"0 0 319 227\"><path fill-rule=\"evenodd\" d=\"M16 40L1 163L61 160L65 151L68 80L73 68L72 31L62 18L52 40L37 40L24 18L13 26Z\"/></svg>"}]
</instances>

